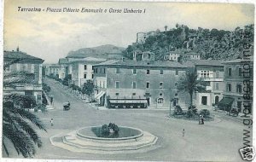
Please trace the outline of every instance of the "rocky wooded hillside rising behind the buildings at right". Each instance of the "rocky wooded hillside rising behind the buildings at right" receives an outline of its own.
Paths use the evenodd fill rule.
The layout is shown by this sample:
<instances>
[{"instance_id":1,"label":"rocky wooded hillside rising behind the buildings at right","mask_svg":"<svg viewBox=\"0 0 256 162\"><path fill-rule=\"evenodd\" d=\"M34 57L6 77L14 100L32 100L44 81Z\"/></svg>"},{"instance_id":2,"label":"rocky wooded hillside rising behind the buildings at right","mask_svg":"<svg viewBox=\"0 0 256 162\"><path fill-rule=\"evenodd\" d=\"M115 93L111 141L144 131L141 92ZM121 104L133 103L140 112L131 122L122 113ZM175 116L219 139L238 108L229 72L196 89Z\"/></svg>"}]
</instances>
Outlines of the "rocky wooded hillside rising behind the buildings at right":
<instances>
[{"instance_id":1,"label":"rocky wooded hillside rising behind the buildings at right","mask_svg":"<svg viewBox=\"0 0 256 162\"><path fill-rule=\"evenodd\" d=\"M147 33L147 32L146 32ZM132 58L136 49L154 52L157 60L163 60L169 51L197 52L202 59L230 60L241 55L243 44L249 43L253 49L254 26L236 27L235 31L218 29L189 29L188 26L179 26L156 32L146 38L144 43L129 45L124 55Z\"/></svg>"}]
</instances>

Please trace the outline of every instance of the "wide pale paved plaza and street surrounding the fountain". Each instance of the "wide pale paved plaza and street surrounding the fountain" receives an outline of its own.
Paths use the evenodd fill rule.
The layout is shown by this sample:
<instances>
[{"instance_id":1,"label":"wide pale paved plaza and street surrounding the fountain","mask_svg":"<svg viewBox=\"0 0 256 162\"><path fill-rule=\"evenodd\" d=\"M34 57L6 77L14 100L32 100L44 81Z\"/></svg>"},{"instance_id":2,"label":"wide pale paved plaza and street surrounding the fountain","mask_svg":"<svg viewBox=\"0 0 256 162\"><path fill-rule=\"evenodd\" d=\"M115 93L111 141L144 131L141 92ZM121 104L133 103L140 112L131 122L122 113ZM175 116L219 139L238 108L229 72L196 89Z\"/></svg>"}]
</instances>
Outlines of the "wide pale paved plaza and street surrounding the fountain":
<instances>
[{"instance_id":1,"label":"wide pale paved plaza and street surrounding the fountain","mask_svg":"<svg viewBox=\"0 0 256 162\"><path fill-rule=\"evenodd\" d=\"M36 159L94 159L94 160L178 160L178 161L240 161L238 149L243 147L242 131L245 126L236 120L216 115L204 125L196 121L169 119L169 111L156 109L106 109L97 110L71 95L59 83L46 79L54 96L55 109L38 113L44 121L47 133L39 131L43 148ZM71 109L63 111L62 103L70 101ZM50 125L50 119L54 125ZM108 123L135 127L158 137L157 149L147 153L95 154L74 153L53 146L49 137L68 133L79 128ZM183 129L185 136L182 136ZM10 157L16 157L15 152ZM21 158L21 157L20 157Z\"/></svg>"}]
</instances>

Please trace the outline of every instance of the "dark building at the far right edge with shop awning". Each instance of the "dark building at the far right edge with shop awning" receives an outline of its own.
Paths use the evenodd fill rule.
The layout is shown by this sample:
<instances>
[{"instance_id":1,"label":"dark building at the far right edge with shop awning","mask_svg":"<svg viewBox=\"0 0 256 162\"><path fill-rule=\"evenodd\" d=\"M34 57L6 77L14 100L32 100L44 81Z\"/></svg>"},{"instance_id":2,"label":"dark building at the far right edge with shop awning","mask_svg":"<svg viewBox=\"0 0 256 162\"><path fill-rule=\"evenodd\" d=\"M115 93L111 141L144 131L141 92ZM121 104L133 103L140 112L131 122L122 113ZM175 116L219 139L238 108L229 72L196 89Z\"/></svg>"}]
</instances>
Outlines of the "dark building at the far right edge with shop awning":
<instances>
[{"instance_id":1,"label":"dark building at the far right edge with shop awning","mask_svg":"<svg viewBox=\"0 0 256 162\"><path fill-rule=\"evenodd\" d=\"M235 108L239 113L247 106L252 113L253 58L224 61L224 98L218 107L226 111Z\"/></svg>"}]
</instances>

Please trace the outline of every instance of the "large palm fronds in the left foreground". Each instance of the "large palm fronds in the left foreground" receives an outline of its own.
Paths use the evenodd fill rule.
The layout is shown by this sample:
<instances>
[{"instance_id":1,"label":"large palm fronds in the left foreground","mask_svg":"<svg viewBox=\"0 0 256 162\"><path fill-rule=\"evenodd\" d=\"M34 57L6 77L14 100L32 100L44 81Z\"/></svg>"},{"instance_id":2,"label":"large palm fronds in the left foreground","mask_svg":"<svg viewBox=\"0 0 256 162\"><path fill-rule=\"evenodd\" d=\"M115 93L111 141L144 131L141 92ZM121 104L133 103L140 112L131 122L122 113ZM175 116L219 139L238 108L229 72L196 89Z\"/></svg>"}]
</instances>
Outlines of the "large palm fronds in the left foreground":
<instances>
[{"instance_id":1,"label":"large palm fronds in the left foreground","mask_svg":"<svg viewBox=\"0 0 256 162\"><path fill-rule=\"evenodd\" d=\"M33 84L33 75L29 72L6 72L6 68L20 60L11 61L3 66L3 87L13 88L19 84ZM4 92L4 90L3 90ZM36 107L32 97L15 93L3 93L3 150L9 156L8 141L11 142L18 154L25 158L36 153L36 145L42 147L34 125L40 130L45 130L44 124L38 117L25 110Z\"/></svg>"}]
</instances>

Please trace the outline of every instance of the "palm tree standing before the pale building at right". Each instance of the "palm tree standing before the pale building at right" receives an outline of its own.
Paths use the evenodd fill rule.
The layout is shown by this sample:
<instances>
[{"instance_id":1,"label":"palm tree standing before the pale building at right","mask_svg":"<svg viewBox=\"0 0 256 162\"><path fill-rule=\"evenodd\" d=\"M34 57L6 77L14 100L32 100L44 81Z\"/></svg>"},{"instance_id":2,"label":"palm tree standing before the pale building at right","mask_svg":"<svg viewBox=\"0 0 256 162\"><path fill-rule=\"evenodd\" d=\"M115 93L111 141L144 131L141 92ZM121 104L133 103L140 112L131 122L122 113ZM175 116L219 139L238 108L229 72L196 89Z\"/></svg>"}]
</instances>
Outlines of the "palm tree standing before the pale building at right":
<instances>
[{"instance_id":1,"label":"palm tree standing before the pale building at right","mask_svg":"<svg viewBox=\"0 0 256 162\"><path fill-rule=\"evenodd\" d=\"M202 85L200 79L197 79L197 74L195 73L195 69L190 69L185 73L183 78L180 78L177 84L177 90L189 93L190 106L192 106L194 92L205 90L205 86Z\"/></svg>"}]
</instances>

